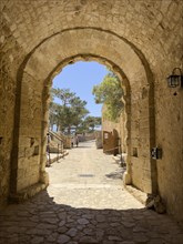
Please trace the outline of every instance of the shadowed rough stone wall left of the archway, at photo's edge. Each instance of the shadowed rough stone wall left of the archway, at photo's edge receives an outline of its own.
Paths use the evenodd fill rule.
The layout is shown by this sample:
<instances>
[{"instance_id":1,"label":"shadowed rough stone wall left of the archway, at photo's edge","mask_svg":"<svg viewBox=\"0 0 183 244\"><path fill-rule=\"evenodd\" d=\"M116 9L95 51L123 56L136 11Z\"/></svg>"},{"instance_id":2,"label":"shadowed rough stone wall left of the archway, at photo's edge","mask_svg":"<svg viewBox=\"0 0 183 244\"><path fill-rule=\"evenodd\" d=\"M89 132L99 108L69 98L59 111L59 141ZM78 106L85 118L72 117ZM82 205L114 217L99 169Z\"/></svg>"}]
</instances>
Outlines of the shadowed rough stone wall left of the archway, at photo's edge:
<instances>
[{"instance_id":1,"label":"shadowed rough stone wall left of the archway, at photo's edge","mask_svg":"<svg viewBox=\"0 0 183 244\"><path fill-rule=\"evenodd\" d=\"M14 156L13 138L17 135L14 128L17 101L17 70L22 59L21 47L11 34L11 29L6 24L3 17L0 23L0 207L7 204L10 194L10 182L13 176L11 159ZM6 42L6 40L9 42ZM23 53L23 52L22 52ZM19 55L19 59L17 57ZM18 152L17 152L18 153Z\"/></svg>"}]
</instances>

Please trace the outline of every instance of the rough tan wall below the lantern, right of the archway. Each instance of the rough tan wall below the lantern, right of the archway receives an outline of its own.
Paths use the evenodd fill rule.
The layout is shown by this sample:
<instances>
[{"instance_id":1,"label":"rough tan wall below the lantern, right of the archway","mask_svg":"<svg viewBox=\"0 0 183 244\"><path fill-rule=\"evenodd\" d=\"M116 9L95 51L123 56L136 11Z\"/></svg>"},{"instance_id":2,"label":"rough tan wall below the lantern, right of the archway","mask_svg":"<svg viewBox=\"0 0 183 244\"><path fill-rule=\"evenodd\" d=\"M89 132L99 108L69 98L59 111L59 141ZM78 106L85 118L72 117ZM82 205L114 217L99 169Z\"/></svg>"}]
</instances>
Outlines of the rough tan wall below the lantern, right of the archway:
<instances>
[{"instance_id":1,"label":"rough tan wall below the lantern, right of the archway","mask_svg":"<svg viewBox=\"0 0 183 244\"><path fill-rule=\"evenodd\" d=\"M183 63L182 63L183 64ZM157 184L167 212L183 221L183 88L167 88L164 75L160 75L156 96L156 145L162 149L157 160Z\"/></svg>"}]
</instances>

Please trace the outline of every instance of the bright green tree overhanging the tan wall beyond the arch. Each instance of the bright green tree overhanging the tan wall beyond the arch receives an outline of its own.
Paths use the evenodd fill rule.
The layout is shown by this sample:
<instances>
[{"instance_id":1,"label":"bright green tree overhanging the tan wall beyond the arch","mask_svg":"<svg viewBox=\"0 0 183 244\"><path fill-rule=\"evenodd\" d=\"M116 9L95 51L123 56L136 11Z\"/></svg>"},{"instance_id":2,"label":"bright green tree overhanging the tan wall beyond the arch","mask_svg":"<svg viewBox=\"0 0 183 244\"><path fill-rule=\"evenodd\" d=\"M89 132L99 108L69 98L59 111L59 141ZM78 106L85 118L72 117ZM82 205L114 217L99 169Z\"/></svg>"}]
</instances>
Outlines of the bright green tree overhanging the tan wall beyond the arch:
<instances>
[{"instance_id":1,"label":"bright green tree overhanging the tan wall beyond the arch","mask_svg":"<svg viewBox=\"0 0 183 244\"><path fill-rule=\"evenodd\" d=\"M124 108L122 102L123 90L119 78L110 72L100 84L93 87L92 93L95 95L95 103L105 104L104 118L110 121L118 121Z\"/></svg>"}]
</instances>

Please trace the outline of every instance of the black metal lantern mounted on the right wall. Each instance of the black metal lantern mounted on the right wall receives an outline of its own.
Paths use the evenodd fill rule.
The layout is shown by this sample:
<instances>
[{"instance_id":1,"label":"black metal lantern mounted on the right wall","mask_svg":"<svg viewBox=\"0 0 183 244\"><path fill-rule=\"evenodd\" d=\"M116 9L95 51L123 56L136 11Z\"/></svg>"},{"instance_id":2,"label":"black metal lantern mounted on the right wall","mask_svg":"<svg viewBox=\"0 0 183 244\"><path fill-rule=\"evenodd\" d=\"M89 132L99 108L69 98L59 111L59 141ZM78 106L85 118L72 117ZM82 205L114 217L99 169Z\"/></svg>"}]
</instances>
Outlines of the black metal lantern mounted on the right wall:
<instances>
[{"instance_id":1,"label":"black metal lantern mounted on the right wall","mask_svg":"<svg viewBox=\"0 0 183 244\"><path fill-rule=\"evenodd\" d=\"M167 87L169 88L183 88L183 73L180 68L174 68L172 74L167 77Z\"/></svg>"}]
</instances>

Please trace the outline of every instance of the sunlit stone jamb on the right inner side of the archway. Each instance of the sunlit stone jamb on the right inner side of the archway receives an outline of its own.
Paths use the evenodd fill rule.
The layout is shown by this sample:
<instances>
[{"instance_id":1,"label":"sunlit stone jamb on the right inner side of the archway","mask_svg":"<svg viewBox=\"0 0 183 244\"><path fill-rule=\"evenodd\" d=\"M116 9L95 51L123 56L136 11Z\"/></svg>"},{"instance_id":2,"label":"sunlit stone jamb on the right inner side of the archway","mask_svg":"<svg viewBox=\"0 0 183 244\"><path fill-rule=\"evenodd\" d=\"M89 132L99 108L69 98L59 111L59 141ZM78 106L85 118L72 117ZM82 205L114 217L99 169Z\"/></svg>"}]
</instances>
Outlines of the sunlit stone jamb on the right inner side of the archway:
<instances>
[{"instance_id":1,"label":"sunlit stone jamb on the right inner side of the archway","mask_svg":"<svg viewBox=\"0 0 183 244\"><path fill-rule=\"evenodd\" d=\"M144 80L141 73L138 79ZM150 136L150 92L151 84L135 85L131 102L131 171L132 184L138 189L152 193L151 143Z\"/></svg>"}]
</instances>

